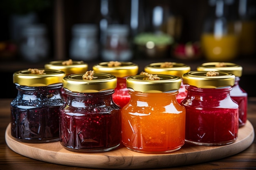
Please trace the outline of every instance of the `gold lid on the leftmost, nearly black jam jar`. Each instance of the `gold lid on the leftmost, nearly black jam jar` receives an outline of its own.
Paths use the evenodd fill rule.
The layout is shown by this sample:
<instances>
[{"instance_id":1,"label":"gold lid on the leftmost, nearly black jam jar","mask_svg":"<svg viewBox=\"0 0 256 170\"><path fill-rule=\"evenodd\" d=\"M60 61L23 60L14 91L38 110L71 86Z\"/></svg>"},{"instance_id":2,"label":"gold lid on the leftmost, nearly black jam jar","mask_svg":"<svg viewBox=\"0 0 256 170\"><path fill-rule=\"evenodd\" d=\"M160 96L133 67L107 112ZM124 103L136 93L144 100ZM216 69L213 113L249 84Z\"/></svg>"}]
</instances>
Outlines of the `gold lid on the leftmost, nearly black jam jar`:
<instances>
[{"instance_id":1,"label":"gold lid on the leftmost, nearly black jam jar","mask_svg":"<svg viewBox=\"0 0 256 170\"><path fill-rule=\"evenodd\" d=\"M62 83L65 72L61 70L38 68L43 74L33 74L29 69L13 73L13 83L20 86L48 86L51 84Z\"/></svg>"}]
</instances>

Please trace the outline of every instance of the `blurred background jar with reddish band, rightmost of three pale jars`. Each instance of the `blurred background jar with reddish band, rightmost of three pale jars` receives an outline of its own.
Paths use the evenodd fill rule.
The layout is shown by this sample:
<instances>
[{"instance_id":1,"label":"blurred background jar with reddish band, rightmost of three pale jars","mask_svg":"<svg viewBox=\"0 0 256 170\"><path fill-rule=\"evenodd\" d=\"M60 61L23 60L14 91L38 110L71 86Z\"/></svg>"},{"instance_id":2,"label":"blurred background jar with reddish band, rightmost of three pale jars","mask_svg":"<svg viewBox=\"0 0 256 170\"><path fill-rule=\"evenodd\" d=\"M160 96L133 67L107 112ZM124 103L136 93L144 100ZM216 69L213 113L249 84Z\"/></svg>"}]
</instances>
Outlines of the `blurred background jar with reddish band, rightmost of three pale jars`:
<instances>
[{"instance_id":1,"label":"blurred background jar with reddish band, rightmost of three pale jars","mask_svg":"<svg viewBox=\"0 0 256 170\"><path fill-rule=\"evenodd\" d=\"M106 31L101 57L102 60L128 61L132 59L130 47L129 27L121 24L110 24Z\"/></svg>"}]
</instances>

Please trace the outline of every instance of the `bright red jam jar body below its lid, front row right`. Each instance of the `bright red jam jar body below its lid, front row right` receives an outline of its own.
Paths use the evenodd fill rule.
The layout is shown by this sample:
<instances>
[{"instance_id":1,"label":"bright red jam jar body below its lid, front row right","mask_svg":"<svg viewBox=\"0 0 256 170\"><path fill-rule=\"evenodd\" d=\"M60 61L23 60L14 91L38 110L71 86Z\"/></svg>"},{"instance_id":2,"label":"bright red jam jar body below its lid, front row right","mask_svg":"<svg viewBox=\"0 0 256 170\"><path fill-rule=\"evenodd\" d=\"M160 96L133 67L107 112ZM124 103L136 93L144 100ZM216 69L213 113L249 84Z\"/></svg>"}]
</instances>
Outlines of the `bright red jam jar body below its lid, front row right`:
<instances>
[{"instance_id":1,"label":"bright red jam jar body below its lid, front row right","mask_svg":"<svg viewBox=\"0 0 256 170\"><path fill-rule=\"evenodd\" d=\"M227 88L186 86L186 142L206 146L233 143L238 137L238 105Z\"/></svg>"}]
</instances>

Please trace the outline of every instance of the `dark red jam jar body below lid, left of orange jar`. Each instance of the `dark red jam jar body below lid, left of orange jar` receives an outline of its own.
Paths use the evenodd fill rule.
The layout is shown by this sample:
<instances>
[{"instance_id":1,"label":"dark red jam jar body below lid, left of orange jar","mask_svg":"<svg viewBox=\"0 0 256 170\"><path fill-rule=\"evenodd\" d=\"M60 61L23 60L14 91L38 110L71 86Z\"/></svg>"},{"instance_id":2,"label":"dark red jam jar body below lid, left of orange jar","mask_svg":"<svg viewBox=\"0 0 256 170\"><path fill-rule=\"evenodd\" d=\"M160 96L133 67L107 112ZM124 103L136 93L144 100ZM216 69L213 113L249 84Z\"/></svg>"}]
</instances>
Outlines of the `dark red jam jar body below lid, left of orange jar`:
<instances>
[{"instance_id":1,"label":"dark red jam jar body below lid, left of orange jar","mask_svg":"<svg viewBox=\"0 0 256 170\"><path fill-rule=\"evenodd\" d=\"M67 102L60 108L60 141L75 152L104 152L121 142L121 110L112 91L75 93L65 91Z\"/></svg>"}]
</instances>

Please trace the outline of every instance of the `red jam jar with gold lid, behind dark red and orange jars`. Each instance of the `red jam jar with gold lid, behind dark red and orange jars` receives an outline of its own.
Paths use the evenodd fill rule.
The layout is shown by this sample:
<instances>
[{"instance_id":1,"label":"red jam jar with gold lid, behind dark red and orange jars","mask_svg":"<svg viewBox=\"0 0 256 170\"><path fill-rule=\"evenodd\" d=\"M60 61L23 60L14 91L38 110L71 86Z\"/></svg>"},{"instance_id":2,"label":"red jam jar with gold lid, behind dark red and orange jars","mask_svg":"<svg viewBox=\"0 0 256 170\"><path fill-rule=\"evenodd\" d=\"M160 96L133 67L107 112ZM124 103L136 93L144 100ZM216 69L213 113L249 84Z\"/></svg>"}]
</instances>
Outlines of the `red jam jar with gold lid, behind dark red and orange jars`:
<instances>
[{"instance_id":1,"label":"red jam jar with gold lid, behind dark red and orange jars","mask_svg":"<svg viewBox=\"0 0 256 170\"><path fill-rule=\"evenodd\" d=\"M95 73L107 73L117 77L117 87L112 95L116 104L123 108L130 100L130 94L126 88L126 78L138 73L138 65L132 62L101 62L93 67Z\"/></svg>"}]
</instances>

